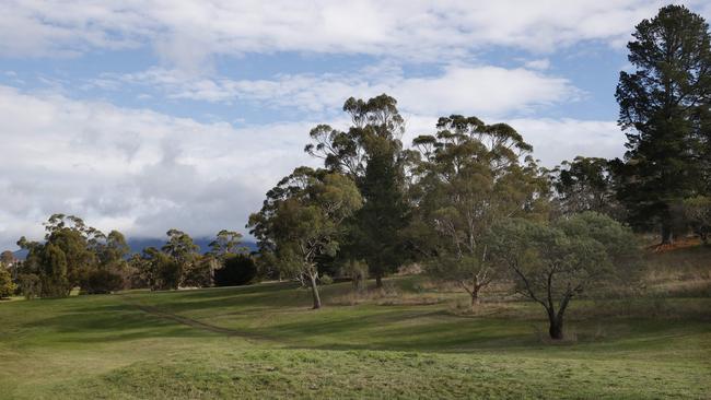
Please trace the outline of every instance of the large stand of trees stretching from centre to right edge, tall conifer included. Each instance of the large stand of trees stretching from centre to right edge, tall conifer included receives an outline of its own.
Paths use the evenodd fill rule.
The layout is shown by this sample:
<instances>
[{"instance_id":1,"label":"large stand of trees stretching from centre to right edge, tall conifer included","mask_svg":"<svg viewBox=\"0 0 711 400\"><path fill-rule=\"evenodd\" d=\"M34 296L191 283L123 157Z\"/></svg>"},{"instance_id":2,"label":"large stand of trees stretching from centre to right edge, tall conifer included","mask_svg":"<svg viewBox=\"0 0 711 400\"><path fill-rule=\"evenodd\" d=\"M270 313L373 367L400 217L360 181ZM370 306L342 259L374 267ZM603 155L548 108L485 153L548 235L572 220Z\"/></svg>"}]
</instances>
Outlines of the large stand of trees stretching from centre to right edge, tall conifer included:
<instances>
[{"instance_id":1,"label":"large stand of trees stretching from centre to right edge, tall conifer included","mask_svg":"<svg viewBox=\"0 0 711 400\"><path fill-rule=\"evenodd\" d=\"M576 157L553 169L505 123L440 118L404 148L405 121L385 94L349 98L351 126L315 127L299 167L267 193L247 227L259 260L310 286L346 271L382 278L420 262L471 296L506 280L539 303L562 338L570 301L599 282L633 277L632 230L658 228L662 244L711 215L711 51L706 22L680 5L637 26L634 72L616 97L623 160ZM630 228L631 227L631 228Z\"/></svg>"}]
</instances>

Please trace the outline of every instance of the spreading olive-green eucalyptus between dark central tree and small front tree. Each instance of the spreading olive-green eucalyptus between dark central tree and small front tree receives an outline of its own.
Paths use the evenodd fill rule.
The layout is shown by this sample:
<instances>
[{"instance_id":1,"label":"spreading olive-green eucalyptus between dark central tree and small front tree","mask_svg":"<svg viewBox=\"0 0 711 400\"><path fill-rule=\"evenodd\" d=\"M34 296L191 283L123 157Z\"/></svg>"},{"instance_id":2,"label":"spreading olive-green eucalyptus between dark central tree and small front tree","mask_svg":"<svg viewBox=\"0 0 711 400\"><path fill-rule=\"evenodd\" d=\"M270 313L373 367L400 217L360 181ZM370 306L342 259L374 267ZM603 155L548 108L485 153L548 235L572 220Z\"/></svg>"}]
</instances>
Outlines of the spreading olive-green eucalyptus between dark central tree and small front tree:
<instances>
[{"instance_id":1,"label":"spreading olive-green eucalyptus between dark central tree and small front tree","mask_svg":"<svg viewBox=\"0 0 711 400\"><path fill-rule=\"evenodd\" d=\"M547 183L532 161L520 163L532 148L505 123L443 117L435 136L418 137L413 144L420 162L410 232L419 236L430 274L457 282L474 307L498 272L482 238L497 220L539 209Z\"/></svg>"}]
</instances>

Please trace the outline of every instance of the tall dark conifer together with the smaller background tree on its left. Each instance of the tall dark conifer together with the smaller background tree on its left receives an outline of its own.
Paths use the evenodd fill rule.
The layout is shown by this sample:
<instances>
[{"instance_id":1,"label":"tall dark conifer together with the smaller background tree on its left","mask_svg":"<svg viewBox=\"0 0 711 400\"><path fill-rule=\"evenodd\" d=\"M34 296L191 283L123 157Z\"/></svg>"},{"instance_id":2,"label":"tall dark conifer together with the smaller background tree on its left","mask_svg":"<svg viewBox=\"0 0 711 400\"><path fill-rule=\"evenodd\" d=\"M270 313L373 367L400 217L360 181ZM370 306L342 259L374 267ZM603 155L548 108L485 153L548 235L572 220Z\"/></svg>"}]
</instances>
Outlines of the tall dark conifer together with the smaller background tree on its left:
<instances>
[{"instance_id":1,"label":"tall dark conifer together with the smaller background tree on its left","mask_svg":"<svg viewBox=\"0 0 711 400\"><path fill-rule=\"evenodd\" d=\"M642 21L628 45L633 72L615 96L622 160L575 158L557 170L568 211L596 210L671 244L691 227L704 240L711 207L711 35L683 5Z\"/></svg>"}]
</instances>

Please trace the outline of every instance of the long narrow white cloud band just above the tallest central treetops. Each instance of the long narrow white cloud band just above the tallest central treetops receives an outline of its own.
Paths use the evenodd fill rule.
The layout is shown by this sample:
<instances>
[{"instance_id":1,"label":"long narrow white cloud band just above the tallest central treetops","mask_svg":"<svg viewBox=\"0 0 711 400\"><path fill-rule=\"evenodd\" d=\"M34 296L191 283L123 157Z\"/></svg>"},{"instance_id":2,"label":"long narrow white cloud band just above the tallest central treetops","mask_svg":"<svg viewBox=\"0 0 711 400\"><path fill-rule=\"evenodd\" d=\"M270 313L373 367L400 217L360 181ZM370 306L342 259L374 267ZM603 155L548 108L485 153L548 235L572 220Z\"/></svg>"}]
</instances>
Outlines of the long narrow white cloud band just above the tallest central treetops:
<instances>
[{"instance_id":1,"label":"long narrow white cloud band just above the tallest central treetops","mask_svg":"<svg viewBox=\"0 0 711 400\"><path fill-rule=\"evenodd\" d=\"M397 68L375 67L352 74L280 74L271 80L229 80L153 68L100 82L155 86L172 98L214 103L252 102L308 113L335 110L349 96L387 93L416 114L501 116L576 99L582 93L567 79L523 68L452 66L427 78L407 78ZM103 83L104 85L106 83Z\"/></svg>"}]
</instances>

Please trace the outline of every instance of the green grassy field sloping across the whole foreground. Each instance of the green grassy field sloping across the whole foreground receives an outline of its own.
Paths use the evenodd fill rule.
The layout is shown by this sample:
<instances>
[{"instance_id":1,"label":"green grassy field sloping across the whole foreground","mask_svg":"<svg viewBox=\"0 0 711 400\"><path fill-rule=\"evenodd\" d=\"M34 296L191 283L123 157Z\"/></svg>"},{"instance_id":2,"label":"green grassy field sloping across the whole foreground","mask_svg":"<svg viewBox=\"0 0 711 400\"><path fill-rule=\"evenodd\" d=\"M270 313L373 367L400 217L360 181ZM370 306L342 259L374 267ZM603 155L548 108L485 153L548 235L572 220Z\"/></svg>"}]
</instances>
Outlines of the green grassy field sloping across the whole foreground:
<instances>
[{"instance_id":1,"label":"green grassy field sloping across the whole foreground","mask_svg":"<svg viewBox=\"0 0 711 400\"><path fill-rule=\"evenodd\" d=\"M0 304L0 398L711 398L711 251L648 259L639 298L476 313L423 277L325 307L291 283Z\"/></svg>"}]
</instances>

